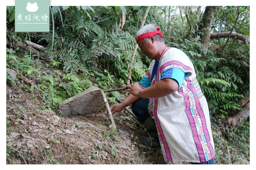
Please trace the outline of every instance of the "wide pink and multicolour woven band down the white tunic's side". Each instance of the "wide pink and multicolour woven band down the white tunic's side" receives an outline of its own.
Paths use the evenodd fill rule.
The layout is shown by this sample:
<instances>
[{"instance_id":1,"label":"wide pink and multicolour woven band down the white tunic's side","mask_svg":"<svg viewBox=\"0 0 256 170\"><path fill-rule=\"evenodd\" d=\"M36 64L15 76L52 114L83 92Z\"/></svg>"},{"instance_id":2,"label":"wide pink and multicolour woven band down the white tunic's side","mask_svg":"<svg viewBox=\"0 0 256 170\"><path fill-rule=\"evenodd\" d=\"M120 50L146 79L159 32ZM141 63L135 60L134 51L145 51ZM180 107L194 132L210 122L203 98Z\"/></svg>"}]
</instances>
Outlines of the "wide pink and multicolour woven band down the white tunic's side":
<instances>
[{"instance_id":1,"label":"wide pink and multicolour woven band down the white tunic's side","mask_svg":"<svg viewBox=\"0 0 256 170\"><path fill-rule=\"evenodd\" d=\"M195 85L196 82L197 80L194 79L193 84ZM210 135L195 87L197 85L193 86L191 80L186 78L178 92L184 97L186 115L193 133L198 156L201 162L205 162L214 157L214 151L210 143Z\"/></svg>"}]
</instances>

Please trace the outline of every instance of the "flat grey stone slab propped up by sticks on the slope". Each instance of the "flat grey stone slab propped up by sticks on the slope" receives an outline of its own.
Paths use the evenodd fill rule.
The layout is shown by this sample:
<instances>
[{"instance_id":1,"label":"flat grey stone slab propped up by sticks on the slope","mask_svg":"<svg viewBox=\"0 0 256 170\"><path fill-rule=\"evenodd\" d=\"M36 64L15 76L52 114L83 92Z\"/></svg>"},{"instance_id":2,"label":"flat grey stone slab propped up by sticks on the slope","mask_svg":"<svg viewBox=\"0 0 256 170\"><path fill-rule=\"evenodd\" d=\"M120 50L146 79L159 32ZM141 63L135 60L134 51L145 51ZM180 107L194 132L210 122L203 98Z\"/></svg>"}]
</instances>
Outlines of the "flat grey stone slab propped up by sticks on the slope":
<instances>
[{"instance_id":1,"label":"flat grey stone slab propped up by sticks on the slope","mask_svg":"<svg viewBox=\"0 0 256 170\"><path fill-rule=\"evenodd\" d=\"M93 114L104 104L101 91L98 87L92 86L60 102L57 112L63 116Z\"/></svg>"}]
</instances>

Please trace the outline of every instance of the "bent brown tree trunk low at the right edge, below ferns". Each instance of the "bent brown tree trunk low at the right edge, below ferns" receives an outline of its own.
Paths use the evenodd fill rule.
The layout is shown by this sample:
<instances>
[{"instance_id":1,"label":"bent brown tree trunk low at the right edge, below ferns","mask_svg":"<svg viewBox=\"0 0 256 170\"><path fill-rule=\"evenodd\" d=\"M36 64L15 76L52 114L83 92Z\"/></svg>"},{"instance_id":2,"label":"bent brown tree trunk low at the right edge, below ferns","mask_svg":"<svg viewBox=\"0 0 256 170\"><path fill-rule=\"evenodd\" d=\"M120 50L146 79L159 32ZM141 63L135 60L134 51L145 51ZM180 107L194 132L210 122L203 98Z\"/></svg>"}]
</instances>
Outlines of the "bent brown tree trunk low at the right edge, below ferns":
<instances>
[{"instance_id":1,"label":"bent brown tree trunk low at the right edge, below ferns","mask_svg":"<svg viewBox=\"0 0 256 170\"><path fill-rule=\"evenodd\" d=\"M237 104L242 107L242 110L240 110L235 116L227 119L228 124L233 128L243 124L250 115L250 95L247 95L244 99L241 99Z\"/></svg>"}]
</instances>

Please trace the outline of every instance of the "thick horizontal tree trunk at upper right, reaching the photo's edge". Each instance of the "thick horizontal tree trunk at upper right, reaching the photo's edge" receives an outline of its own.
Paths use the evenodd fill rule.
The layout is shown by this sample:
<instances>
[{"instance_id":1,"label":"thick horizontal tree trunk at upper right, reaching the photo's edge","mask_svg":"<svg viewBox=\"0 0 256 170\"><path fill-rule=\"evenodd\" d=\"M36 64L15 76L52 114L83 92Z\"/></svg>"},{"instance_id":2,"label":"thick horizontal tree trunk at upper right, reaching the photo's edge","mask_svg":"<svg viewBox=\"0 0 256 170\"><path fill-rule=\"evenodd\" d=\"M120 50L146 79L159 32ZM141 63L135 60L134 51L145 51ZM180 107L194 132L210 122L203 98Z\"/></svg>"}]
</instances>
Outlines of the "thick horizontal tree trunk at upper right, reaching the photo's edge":
<instances>
[{"instance_id":1,"label":"thick horizontal tree trunk at upper right, reaching the photo's edge","mask_svg":"<svg viewBox=\"0 0 256 170\"><path fill-rule=\"evenodd\" d=\"M224 32L224 33L211 33L210 38L228 38L230 35L230 32ZM243 35L240 33L232 32L230 35L230 38L235 38L237 40L244 41L246 43L250 43L250 36Z\"/></svg>"}]
</instances>

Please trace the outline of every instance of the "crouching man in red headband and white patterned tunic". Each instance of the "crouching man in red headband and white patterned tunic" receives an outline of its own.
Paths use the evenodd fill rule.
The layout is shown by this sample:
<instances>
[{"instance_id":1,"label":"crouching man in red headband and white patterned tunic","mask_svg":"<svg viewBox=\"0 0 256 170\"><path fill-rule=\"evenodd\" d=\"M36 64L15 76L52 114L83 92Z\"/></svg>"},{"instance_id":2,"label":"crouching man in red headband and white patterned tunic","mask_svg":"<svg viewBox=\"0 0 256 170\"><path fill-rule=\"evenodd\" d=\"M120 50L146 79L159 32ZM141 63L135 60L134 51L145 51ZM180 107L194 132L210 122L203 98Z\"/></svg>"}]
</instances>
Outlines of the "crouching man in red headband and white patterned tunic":
<instances>
[{"instance_id":1,"label":"crouching man in red headband and white patterned tunic","mask_svg":"<svg viewBox=\"0 0 256 170\"><path fill-rule=\"evenodd\" d=\"M132 111L155 139L141 137L142 144L161 146L164 159L195 164L216 164L207 101L196 80L193 64L177 48L166 47L156 25L136 33L140 53L153 61L139 83L127 85L130 95L111 109Z\"/></svg>"}]
</instances>

